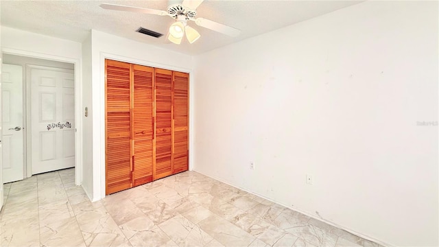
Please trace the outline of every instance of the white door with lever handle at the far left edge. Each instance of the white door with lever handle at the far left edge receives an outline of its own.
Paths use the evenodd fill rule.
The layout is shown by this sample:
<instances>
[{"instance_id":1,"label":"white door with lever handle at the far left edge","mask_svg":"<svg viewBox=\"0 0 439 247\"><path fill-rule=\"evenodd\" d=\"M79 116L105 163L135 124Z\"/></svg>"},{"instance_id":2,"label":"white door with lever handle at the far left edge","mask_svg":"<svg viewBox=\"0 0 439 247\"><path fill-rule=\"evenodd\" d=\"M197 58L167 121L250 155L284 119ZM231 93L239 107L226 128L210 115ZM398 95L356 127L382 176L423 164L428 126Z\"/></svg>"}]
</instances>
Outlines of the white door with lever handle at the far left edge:
<instances>
[{"instance_id":1,"label":"white door with lever handle at the far left edge","mask_svg":"<svg viewBox=\"0 0 439 247\"><path fill-rule=\"evenodd\" d=\"M23 67L2 64L3 183L23 180Z\"/></svg>"}]
</instances>

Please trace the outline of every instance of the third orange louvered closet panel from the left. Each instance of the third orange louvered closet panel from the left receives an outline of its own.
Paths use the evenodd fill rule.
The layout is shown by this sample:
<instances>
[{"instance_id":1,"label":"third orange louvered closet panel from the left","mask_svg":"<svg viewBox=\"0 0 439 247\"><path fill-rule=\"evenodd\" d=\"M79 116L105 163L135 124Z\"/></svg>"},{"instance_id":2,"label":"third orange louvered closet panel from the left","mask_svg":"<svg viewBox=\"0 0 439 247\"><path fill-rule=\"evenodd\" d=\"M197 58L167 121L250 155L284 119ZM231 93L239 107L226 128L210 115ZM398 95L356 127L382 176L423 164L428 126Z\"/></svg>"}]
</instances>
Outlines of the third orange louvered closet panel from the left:
<instances>
[{"instance_id":1,"label":"third orange louvered closet panel from the left","mask_svg":"<svg viewBox=\"0 0 439 247\"><path fill-rule=\"evenodd\" d=\"M172 174L172 71L154 69L156 157L154 180Z\"/></svg>"}]
</instances>

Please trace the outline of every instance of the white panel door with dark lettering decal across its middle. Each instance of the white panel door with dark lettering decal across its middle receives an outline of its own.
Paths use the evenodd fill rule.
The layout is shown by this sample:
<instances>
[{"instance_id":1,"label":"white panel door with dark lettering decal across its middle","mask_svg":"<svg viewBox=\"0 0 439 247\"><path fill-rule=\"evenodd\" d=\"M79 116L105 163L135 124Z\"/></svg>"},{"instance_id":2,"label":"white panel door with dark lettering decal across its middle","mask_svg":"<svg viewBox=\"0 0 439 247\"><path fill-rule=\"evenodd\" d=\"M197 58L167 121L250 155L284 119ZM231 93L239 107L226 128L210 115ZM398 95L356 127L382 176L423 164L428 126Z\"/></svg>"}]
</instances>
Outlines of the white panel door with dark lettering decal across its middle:
<instances>
[{"instance_id":1,"label":"white panel door with dark lettering decal across its middle","mask_svg":"<svg viewBox=\"0 0 439 247\"><path fill-rule=\"evenodd\" d=\"M75 166L73 70L29 65L32 174Z\"/></svg>"}]
</instances>

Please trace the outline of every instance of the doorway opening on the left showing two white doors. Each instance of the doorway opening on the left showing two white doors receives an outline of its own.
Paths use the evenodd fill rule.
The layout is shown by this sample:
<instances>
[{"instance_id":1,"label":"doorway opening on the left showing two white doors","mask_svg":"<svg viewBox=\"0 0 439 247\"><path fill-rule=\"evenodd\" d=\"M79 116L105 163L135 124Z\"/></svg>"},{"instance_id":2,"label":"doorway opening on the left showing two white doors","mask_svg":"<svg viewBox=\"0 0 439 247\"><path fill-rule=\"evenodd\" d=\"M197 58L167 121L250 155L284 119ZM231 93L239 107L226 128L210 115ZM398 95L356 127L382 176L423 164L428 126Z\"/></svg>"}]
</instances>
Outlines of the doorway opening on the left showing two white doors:
<instances>
[{"instance_id":1,"label":"doorway opening on the left showing two white doors","mask_svg":"<svg viewBox=\"0 0 439 247\"><path fill-rule=\"evenodd\" d=\"M76 167L75 64L3 54L2 70L3 183Z\"/></svg>"}]
</instances>

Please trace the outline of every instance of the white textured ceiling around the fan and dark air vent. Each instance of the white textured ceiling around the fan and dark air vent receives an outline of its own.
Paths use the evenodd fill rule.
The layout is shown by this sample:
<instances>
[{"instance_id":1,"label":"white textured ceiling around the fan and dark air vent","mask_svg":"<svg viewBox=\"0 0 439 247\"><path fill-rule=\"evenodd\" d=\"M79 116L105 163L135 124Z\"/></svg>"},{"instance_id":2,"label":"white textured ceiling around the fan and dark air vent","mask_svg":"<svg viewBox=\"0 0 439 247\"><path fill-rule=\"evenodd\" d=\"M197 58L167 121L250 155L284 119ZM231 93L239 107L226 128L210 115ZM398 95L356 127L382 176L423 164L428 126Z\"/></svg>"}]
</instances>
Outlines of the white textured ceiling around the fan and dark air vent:
<instances>
[{"instance_id":1,"label":"white textured ceiling around the fan and dark air vent","mask_svg":"<svg viewBox=\"0 0 439 247\"><path fill-rule=\"evenodd\" d=\"M205 0L197 17L211 19L241 30L235 38L191 23L201 34L193 44L183 39L181 45L166 39L169 16L156 16L104 10L101 3L132 5L166 10L167 1L5 1L1 0L1 25L82 42L90 30L130 38L164 49L195 55L235 43L265 32L292 25L315 16L333 12L361 1L212 1ZM165 34L153 38L134 32L145 27Z\"/></svg>"}]
</instances>

